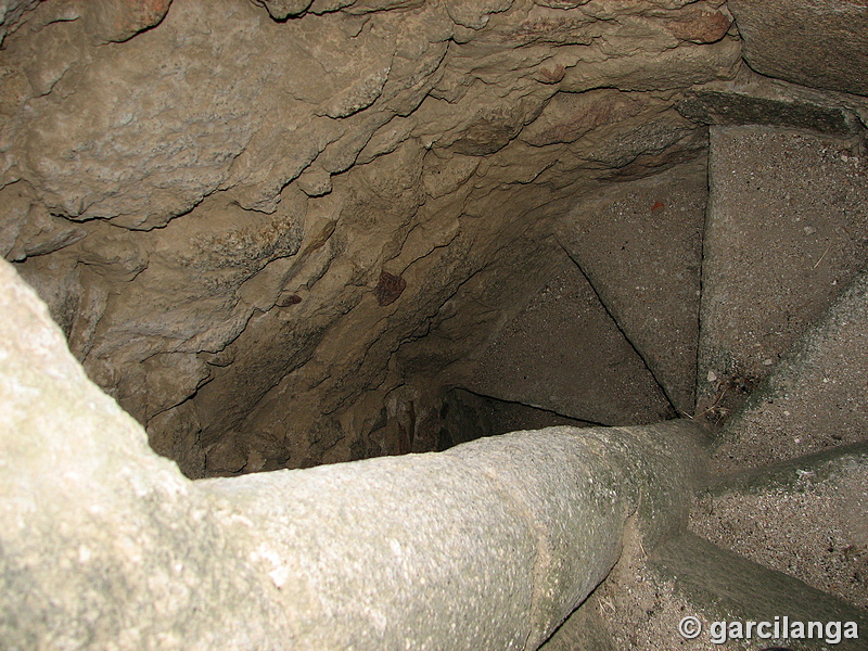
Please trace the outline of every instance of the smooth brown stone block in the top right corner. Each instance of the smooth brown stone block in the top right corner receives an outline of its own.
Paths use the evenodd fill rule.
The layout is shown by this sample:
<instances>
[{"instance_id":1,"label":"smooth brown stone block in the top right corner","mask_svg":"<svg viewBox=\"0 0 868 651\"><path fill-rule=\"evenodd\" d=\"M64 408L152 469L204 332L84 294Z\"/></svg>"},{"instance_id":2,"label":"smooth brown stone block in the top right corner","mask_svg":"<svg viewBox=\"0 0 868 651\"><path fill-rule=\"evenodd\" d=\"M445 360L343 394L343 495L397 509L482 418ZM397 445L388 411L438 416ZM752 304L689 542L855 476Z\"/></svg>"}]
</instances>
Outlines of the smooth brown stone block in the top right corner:
<instances>
[{"instance_id":1,"label":"smooth brown stone block in the top right corner","mask_svg":"<svg viewBox=\"0 0 868 651\"><path fill-rule=\"evenodd\" d=\"M744 59L803 86L868 94L865 0L730 0Z\"/></svg>"}]
</instances>

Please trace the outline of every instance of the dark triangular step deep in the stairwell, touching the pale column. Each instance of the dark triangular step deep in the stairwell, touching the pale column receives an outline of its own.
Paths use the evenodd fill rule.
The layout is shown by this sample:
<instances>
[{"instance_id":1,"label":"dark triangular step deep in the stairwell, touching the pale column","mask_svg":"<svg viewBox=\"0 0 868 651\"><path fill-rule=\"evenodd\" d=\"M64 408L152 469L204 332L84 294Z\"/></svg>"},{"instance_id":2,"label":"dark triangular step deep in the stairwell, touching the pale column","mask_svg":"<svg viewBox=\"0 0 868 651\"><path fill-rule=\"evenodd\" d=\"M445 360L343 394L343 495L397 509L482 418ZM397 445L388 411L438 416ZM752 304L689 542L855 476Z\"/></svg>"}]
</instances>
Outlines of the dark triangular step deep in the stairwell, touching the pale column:
<instances>
[{"instance_id":1,"label":"dark triangular step deep in the stairwell, touching the pale column","mask_svg":"<svg viewBox=\"0 0 868 651\"><path fill-rule=\"evenodd\" d=\"M654 376L565 256L556 277L481 355L465 388L605 425L675 417Z\"/></svg>"}]
</instances>

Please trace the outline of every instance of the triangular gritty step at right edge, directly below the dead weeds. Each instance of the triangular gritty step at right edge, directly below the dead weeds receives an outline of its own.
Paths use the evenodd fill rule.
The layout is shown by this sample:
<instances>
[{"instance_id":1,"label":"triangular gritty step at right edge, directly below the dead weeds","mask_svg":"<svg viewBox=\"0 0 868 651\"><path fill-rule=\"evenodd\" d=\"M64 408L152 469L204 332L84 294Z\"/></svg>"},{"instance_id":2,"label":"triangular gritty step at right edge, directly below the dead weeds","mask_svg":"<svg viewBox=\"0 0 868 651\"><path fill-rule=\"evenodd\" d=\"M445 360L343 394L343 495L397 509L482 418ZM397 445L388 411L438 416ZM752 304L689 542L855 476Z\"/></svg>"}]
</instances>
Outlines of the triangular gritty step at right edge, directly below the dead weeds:
<instances>
[{"instance_id":1,"label":"triangular gritty step at right edge, directly below the dead weeds","mask_svg":"<svg viewBox=\"0 0 868 651\"><path fill-rule=\"evenodd\" d=\"M720 438L718 472L868 439L868 272L854 278Z\"/></svg>"}]
</instances>

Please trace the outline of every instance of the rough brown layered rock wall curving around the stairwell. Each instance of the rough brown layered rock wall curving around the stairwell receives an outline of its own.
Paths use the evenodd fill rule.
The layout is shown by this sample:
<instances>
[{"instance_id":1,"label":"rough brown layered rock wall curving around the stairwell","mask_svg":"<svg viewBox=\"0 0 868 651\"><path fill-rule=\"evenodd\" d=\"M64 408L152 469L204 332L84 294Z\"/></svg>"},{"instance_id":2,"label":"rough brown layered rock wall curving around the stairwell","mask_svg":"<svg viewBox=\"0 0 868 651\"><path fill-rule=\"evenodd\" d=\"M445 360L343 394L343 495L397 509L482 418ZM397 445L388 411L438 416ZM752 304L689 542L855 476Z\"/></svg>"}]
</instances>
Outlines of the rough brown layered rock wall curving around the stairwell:
<instances>
[{"instance_id":1,"label":"rough brown layered rock wall curving around the stairwell","mask_svg":"<svg viewBox=\"0 0 868 651\"><path fill-rule=\"evenodd\" d=\"M583 194L702 151L674 106L741 54L719 1L0 15L0 250L193 477L433 449L429 379Z\"/></svg>"}]
</instances>

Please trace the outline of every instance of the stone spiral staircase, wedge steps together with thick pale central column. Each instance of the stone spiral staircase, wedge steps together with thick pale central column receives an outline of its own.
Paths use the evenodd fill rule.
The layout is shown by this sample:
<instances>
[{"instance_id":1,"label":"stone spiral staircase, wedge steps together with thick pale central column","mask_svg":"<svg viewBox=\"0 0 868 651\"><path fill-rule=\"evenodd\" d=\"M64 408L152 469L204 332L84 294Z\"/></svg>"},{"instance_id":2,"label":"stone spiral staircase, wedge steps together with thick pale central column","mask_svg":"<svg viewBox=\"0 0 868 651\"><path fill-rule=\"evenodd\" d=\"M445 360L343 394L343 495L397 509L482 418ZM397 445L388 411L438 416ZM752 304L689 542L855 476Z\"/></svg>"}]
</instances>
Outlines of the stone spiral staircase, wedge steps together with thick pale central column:
<instances>
[{"instance_id":1,"label":"stone spiral staircase, wedge steps together with thick pale central column","mask_svg":"<svg viewBox=\"0 0 868 651\"><path fill-rule=\"evenodd\" d=\"M480 357L463 407L468 396L515 407L500 365L522 370L527 350L553 350L531 356L542 381L525 369L507 429L579 427L436 455L189 482L85 379L3 266L0 637L10 649L865 649L858 146L713 127L707 217L695 174L678 167L603 201L626 216L621 234L660 238L635 218L682 231L639 250L658 265L611 277L562 237L563 272ZM698 275L698 259L701 296L699 276L673 273ZM674 289L618 281L649 270ZM659 299L618 293L637 291ZM692 347L689 332L654 326L690 322L667 305L679 292L695 298ZM583 332L611 345L588 352L564 337L592 307L599 327ZM673 345L648 348L654 340ZM607 391L593 372L610 371L629 382ZM688 617L695 637L678 633Z\"/></svg>"}]
</instances>

